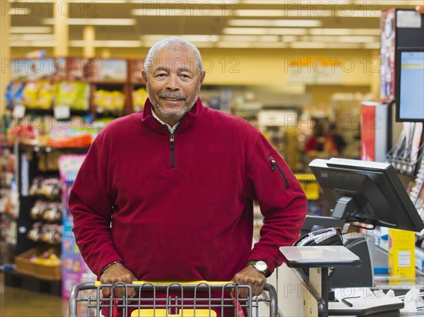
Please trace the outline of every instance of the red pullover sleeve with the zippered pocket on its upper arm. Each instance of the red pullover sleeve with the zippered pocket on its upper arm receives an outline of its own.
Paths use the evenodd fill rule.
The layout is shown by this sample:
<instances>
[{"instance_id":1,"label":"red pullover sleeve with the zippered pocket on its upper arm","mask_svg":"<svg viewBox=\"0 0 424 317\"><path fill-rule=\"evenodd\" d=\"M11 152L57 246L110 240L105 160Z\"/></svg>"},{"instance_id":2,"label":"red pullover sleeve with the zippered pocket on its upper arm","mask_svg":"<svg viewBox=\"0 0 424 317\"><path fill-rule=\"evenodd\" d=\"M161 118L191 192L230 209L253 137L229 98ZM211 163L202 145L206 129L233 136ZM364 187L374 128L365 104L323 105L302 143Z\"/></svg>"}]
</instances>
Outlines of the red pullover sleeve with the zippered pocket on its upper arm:
<instances>
[{"instance_id":1,"label":"red pullover sleeve with the zippered pocket on its upper arm","mask_svg":"<svg viewBox=\"0 0 424 317\"><path fill-rule=\"evenodd\" d=\"M261 238L250 260L263 260L270 273L284 261L280 246L291 246L299 238L307 198L288 165L260 134L247 167L247 193L259 202L264 215Z\"/></svg>"}]
</instances>

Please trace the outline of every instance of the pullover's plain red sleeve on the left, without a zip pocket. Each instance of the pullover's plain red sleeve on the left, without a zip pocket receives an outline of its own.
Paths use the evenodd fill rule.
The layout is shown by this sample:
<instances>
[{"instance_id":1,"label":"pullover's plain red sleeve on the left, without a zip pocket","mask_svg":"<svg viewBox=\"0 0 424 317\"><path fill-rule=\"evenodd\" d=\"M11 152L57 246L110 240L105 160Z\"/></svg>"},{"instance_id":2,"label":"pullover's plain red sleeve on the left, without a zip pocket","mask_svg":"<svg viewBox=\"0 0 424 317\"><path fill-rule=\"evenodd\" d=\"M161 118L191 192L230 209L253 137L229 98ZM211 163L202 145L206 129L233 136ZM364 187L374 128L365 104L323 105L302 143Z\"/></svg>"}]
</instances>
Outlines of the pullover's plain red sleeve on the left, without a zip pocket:
<instances>
[{"instance_id":1,"label":"pullover's plain red sleeve on the left, without a zip pocket","mask_svg":"<svg viewBox=\"0 0 424 317\"><path fill-rule=\"evenodd\" d=\"M73 183L69 210L81 255L90 270L100 277L102 268L113 261L122 261L122 258L112 241L110 221L114 204L107 194L107 173L96 140Z\"/></svg>"}]
</instances>

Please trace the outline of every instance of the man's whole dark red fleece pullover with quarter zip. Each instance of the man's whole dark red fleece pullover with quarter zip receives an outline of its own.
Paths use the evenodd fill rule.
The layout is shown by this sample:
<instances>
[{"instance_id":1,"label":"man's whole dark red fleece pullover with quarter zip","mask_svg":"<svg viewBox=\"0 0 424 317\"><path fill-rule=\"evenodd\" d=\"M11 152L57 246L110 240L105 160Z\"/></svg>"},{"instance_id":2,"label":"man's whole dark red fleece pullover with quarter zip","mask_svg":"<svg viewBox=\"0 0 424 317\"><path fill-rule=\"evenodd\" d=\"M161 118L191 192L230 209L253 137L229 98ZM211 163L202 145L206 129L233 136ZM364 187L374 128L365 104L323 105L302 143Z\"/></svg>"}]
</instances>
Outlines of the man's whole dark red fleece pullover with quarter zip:
<instances>
[{"instance_id":1,"label":"man's whole dark red fleece pullover with quarter zip","mask_svg":"<svg viewBox=\"0 0 424 317\"><path fill-rule=\"evenodd\" d=\"M264 225L252 249L253 200ZM124 261L139 280L230 280L249 260L272 272L299 237L299 182L260 131L198 100L175 135L143 112L95 138L69 197L73 232L100 276Z\"/></svg>"}]
</instances>

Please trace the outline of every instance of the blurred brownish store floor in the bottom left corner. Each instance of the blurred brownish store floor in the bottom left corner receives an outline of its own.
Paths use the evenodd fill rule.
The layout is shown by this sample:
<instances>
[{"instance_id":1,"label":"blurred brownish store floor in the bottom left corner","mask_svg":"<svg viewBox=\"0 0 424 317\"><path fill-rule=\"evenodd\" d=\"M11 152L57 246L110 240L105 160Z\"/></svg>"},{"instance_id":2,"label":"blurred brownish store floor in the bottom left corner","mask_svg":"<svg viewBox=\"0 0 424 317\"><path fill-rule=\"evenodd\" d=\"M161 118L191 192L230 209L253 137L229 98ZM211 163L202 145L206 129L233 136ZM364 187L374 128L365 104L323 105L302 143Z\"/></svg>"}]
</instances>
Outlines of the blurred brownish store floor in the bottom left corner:
<instances>
[{"instance_id":1,"label":"blurred brownish store floor in the bottom left corner","mask_svg":"<svg viewBox=\"0 0 424 317\"><path fill-rule=\"evenodd\" d=\"M69 316L68 309L61 297L5 286L0 273L0 317L62 317Z\"/></svg>"}]
</instances>

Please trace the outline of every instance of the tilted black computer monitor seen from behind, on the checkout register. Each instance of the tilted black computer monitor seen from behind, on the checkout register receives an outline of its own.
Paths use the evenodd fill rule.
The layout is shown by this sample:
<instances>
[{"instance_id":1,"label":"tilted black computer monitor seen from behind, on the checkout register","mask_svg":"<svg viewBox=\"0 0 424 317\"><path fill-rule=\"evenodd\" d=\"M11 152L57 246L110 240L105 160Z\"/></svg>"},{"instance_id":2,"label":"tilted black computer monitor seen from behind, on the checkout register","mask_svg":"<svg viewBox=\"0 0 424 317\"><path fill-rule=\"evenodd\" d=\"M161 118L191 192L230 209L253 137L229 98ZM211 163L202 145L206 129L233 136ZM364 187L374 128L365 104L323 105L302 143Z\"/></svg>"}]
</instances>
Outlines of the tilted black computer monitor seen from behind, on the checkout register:
<instances>
[{"instance_id":1,"label":"tilted black computer monitor seen from behind, on the checkout register","mask_svg":"<svg viewBox=\"0 0 424 317\"><path fill-rule=\"evenodd\" d=\"M334 208L333 217L420 232L424 222L389 163L331 158L310 168Z\"/></svg>"}]
</instances>

